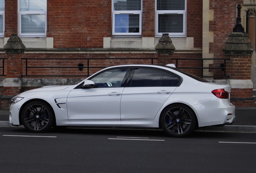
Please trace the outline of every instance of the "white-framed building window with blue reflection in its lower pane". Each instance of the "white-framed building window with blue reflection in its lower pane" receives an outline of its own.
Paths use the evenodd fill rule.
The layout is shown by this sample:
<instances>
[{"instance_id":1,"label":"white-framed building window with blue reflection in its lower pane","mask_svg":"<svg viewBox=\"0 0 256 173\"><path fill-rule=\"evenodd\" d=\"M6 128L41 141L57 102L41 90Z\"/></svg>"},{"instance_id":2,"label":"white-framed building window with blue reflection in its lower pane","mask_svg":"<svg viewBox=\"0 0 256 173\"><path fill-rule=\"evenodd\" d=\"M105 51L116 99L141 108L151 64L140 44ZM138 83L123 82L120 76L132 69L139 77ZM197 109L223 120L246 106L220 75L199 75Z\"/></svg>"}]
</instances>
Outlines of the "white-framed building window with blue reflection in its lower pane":
<instances>
[{"instance_id":1,"label":"white-framed building window with blue reflection in its lower pane","mask_svg":"<svg viewBox=\"0 0 256 173\"><path fill-rule=\"evenodd\" d=\"M112 35L140 36L142 0L112 0Z\"/></svg>"}]
</instances>

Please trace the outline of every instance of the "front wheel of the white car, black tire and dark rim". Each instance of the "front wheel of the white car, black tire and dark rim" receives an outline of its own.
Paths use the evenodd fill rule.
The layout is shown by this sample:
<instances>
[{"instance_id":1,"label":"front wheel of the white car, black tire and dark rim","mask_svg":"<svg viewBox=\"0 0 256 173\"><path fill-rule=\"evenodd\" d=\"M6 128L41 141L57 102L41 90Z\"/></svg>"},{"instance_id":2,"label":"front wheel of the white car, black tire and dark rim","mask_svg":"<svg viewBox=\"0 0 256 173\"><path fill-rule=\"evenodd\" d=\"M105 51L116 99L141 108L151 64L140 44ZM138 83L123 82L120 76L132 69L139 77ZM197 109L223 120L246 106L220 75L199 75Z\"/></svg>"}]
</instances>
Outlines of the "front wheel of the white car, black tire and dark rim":
<instances>
[{"instance_id":1,"label":"front wheel of the white car, black tire and dark rim","mask_svg":"<svg viewBox=\"0 0 256 173\"><path fill-rule=\"evenodd\" d=\"M31 132L49 131L54 125L54 120L54 111L43 101L28 103L21 113L23 126Z\"/></svg>"}]
</instances>

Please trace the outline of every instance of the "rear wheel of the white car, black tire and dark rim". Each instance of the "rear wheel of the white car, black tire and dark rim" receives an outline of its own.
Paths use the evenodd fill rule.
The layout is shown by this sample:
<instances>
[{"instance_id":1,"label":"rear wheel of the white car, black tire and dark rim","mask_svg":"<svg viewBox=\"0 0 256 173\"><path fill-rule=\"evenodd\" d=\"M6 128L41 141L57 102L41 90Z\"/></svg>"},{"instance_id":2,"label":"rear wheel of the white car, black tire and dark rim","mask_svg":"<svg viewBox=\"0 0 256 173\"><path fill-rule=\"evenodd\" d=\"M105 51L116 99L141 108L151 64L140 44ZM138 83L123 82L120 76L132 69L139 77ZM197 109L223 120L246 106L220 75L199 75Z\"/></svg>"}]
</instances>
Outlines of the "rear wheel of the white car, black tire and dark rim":
<instances>
[{"instance_id":1,"label":"rear wheel of the white car, black tire and dark rim","mask_svg":"<svg viewBox=\"0 0 256 173\"><path fill-rule=\"evenodd\" d=\"M194 112L186 105L175 104L164 109L160 117L163 131L172 137L185 137L196 128Z\"/></svg>"}]
</instances>

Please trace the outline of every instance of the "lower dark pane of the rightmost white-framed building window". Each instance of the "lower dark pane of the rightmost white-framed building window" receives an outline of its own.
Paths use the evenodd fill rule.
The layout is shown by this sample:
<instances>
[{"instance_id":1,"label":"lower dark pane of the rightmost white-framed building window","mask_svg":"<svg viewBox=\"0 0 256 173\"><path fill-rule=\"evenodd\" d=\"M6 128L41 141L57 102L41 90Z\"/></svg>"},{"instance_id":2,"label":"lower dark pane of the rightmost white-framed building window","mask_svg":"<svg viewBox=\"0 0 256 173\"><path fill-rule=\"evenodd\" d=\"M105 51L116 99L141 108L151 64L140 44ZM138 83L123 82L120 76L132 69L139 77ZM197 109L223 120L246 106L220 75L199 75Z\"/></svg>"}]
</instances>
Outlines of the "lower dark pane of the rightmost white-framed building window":
<instances>
[{"instance_id":1,"label":"lower dark pane of the rightmost white-framed building window","mask_svg":"<svg viewBox=\"0 0 256 173\"><path fill-rule=\"evenodd\" d=\"M183 32L183 14L159 14L158 32L177 33Z\"/></svg>"}]
</instances>

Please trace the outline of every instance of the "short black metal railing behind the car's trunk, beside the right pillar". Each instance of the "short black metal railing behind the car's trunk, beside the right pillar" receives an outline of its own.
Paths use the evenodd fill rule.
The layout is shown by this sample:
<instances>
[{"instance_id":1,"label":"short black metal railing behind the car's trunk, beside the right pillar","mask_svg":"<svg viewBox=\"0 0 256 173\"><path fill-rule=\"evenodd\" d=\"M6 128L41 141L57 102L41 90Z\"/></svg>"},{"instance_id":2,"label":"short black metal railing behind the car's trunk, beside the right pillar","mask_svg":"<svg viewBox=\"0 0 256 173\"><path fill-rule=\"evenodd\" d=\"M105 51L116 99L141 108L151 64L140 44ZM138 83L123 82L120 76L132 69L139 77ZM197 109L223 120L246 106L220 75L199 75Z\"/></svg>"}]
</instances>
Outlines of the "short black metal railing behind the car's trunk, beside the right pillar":
<instances>
[{"instance_id":1,"label":"short black metal railing behind the car's trunk, beside the right pillar","mask_svg":"<svg viewBox=\"0 0 256 173\"><path fill-rule=\"evenodd\" d=\"M230 76L226 75L226 61L229 60L229 58L172 58L172 60L176 60L175 66L180 69L199 69L200 70L200 76L201 78L229 78ZM179 66L179 61L180 60L186 60L186 64L188 63L188 60L193 60L193 61L200 61L200 66L199 67L184 67L184 66ZM204 67L204 61L205 60L218 60L222 61L223 63L219 63L220 67ZM223 75L221 76L204 76L204 69L221 69L223 72Z\"/></svg>"}]
</instances>

